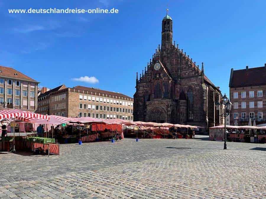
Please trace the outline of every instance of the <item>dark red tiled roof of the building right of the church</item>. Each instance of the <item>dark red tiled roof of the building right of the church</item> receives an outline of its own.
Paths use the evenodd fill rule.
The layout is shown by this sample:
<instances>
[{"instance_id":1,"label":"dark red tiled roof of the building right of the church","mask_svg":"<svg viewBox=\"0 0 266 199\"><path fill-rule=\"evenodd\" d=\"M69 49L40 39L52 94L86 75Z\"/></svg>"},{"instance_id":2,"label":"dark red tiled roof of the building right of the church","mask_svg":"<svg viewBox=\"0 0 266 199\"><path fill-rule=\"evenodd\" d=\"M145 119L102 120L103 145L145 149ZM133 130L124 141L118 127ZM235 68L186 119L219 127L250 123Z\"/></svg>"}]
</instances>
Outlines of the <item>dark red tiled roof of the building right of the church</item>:
<instances>
[{"instance_id":1,"label":"dark red tiled roof of the building right of the church","mask_svg":"<svg viewBox=\"0 0 266 199\"><path fill-rule=\"evenodd\" d=\"M266 68L248 68L231 71L229 87L266 85Z\"/></svg>"}]
</instances>

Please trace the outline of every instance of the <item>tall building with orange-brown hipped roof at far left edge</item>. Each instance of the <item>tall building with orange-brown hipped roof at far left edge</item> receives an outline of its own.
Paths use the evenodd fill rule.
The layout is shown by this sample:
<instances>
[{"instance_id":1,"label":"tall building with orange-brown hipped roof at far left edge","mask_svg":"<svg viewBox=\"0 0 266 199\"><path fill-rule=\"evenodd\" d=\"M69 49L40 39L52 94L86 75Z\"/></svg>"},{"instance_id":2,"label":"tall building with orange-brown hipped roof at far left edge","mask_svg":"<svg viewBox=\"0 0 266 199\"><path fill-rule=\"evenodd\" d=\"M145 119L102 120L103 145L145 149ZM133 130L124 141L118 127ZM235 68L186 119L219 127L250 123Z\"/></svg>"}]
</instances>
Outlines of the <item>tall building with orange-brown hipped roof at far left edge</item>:
<instances>
[{"instance_id":1,"label":"tall building with orange-brown hipped roof at far left edge","mask_svg":"<svg viewBox=\"0 0 266 199\"><path fill-rule=\"evenodd\" d=\"M38 83L14 68L0 66L0 109L37 110Z\"/></svg>"}]
</instances>

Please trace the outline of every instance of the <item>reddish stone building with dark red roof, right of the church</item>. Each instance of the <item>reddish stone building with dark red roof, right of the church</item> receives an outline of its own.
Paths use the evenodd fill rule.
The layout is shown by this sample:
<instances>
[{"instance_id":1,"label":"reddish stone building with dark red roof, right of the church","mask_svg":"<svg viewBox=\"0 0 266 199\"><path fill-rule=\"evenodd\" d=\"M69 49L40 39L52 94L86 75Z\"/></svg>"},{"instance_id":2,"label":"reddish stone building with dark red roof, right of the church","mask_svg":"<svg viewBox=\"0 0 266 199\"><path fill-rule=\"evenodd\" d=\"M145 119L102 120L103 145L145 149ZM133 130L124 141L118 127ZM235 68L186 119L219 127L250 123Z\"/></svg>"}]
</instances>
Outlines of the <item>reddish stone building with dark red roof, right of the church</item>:
<instances>
[{"instance_id":1,"label":"reddish stone building with dark red roof, right of the church","mask_svg":"<svg viewBox=\"0 0 266 199\"><path fill-rule=\"evenodd\" d=\"M230 123L247 125L249 119L256 124L265 123L266 116L266 63L264 67L242 70L231 69L230 100L233 104ZM263 114L264 113L264 114Z\"/></svg>"}]
</instances>

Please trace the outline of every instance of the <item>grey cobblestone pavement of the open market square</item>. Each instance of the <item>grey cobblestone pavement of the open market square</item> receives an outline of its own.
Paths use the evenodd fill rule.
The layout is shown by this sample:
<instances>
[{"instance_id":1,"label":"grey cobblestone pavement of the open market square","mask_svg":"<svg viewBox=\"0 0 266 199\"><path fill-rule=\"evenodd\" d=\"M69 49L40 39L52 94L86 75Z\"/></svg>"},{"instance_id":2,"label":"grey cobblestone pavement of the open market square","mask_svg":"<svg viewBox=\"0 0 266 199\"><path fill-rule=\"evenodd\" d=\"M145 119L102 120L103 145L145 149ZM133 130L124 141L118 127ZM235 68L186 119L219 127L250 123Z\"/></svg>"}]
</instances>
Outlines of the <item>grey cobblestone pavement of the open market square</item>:
<instances>
[{"instance_id":1,"label":"grey cobblestone pavement of the open market square","mask_svg":"<svg viewBox=\"0 0 266 199\"><path fill-rule=\"evenodd\" d=\"M0 198L266 198L266 144L124 139L0 154Z\"/></svg>"}]
</instances>

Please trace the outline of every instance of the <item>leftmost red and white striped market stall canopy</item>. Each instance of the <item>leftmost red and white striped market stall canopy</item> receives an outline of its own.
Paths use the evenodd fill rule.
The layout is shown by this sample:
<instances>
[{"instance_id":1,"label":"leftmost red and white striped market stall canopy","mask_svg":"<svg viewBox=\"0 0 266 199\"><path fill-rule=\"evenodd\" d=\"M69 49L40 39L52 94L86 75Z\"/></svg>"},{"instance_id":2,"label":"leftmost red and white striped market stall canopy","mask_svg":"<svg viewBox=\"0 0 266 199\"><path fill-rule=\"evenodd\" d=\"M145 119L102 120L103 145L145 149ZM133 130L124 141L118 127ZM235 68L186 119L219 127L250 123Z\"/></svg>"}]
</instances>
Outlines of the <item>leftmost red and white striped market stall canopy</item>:
<instances>
[{"instance_id":1,"label":"leftmost red and white striped market stall canopy","mask_svg":"<svg viewBox=\"0 0 266 199\"><path fill-rule=\"evenodd\" d=\"M48 115L41 115L30 111L24 111L18 109L0 110L0 119L9 119L9 118L41 118L49 120Z\"/></svg>"}]
</instances>

